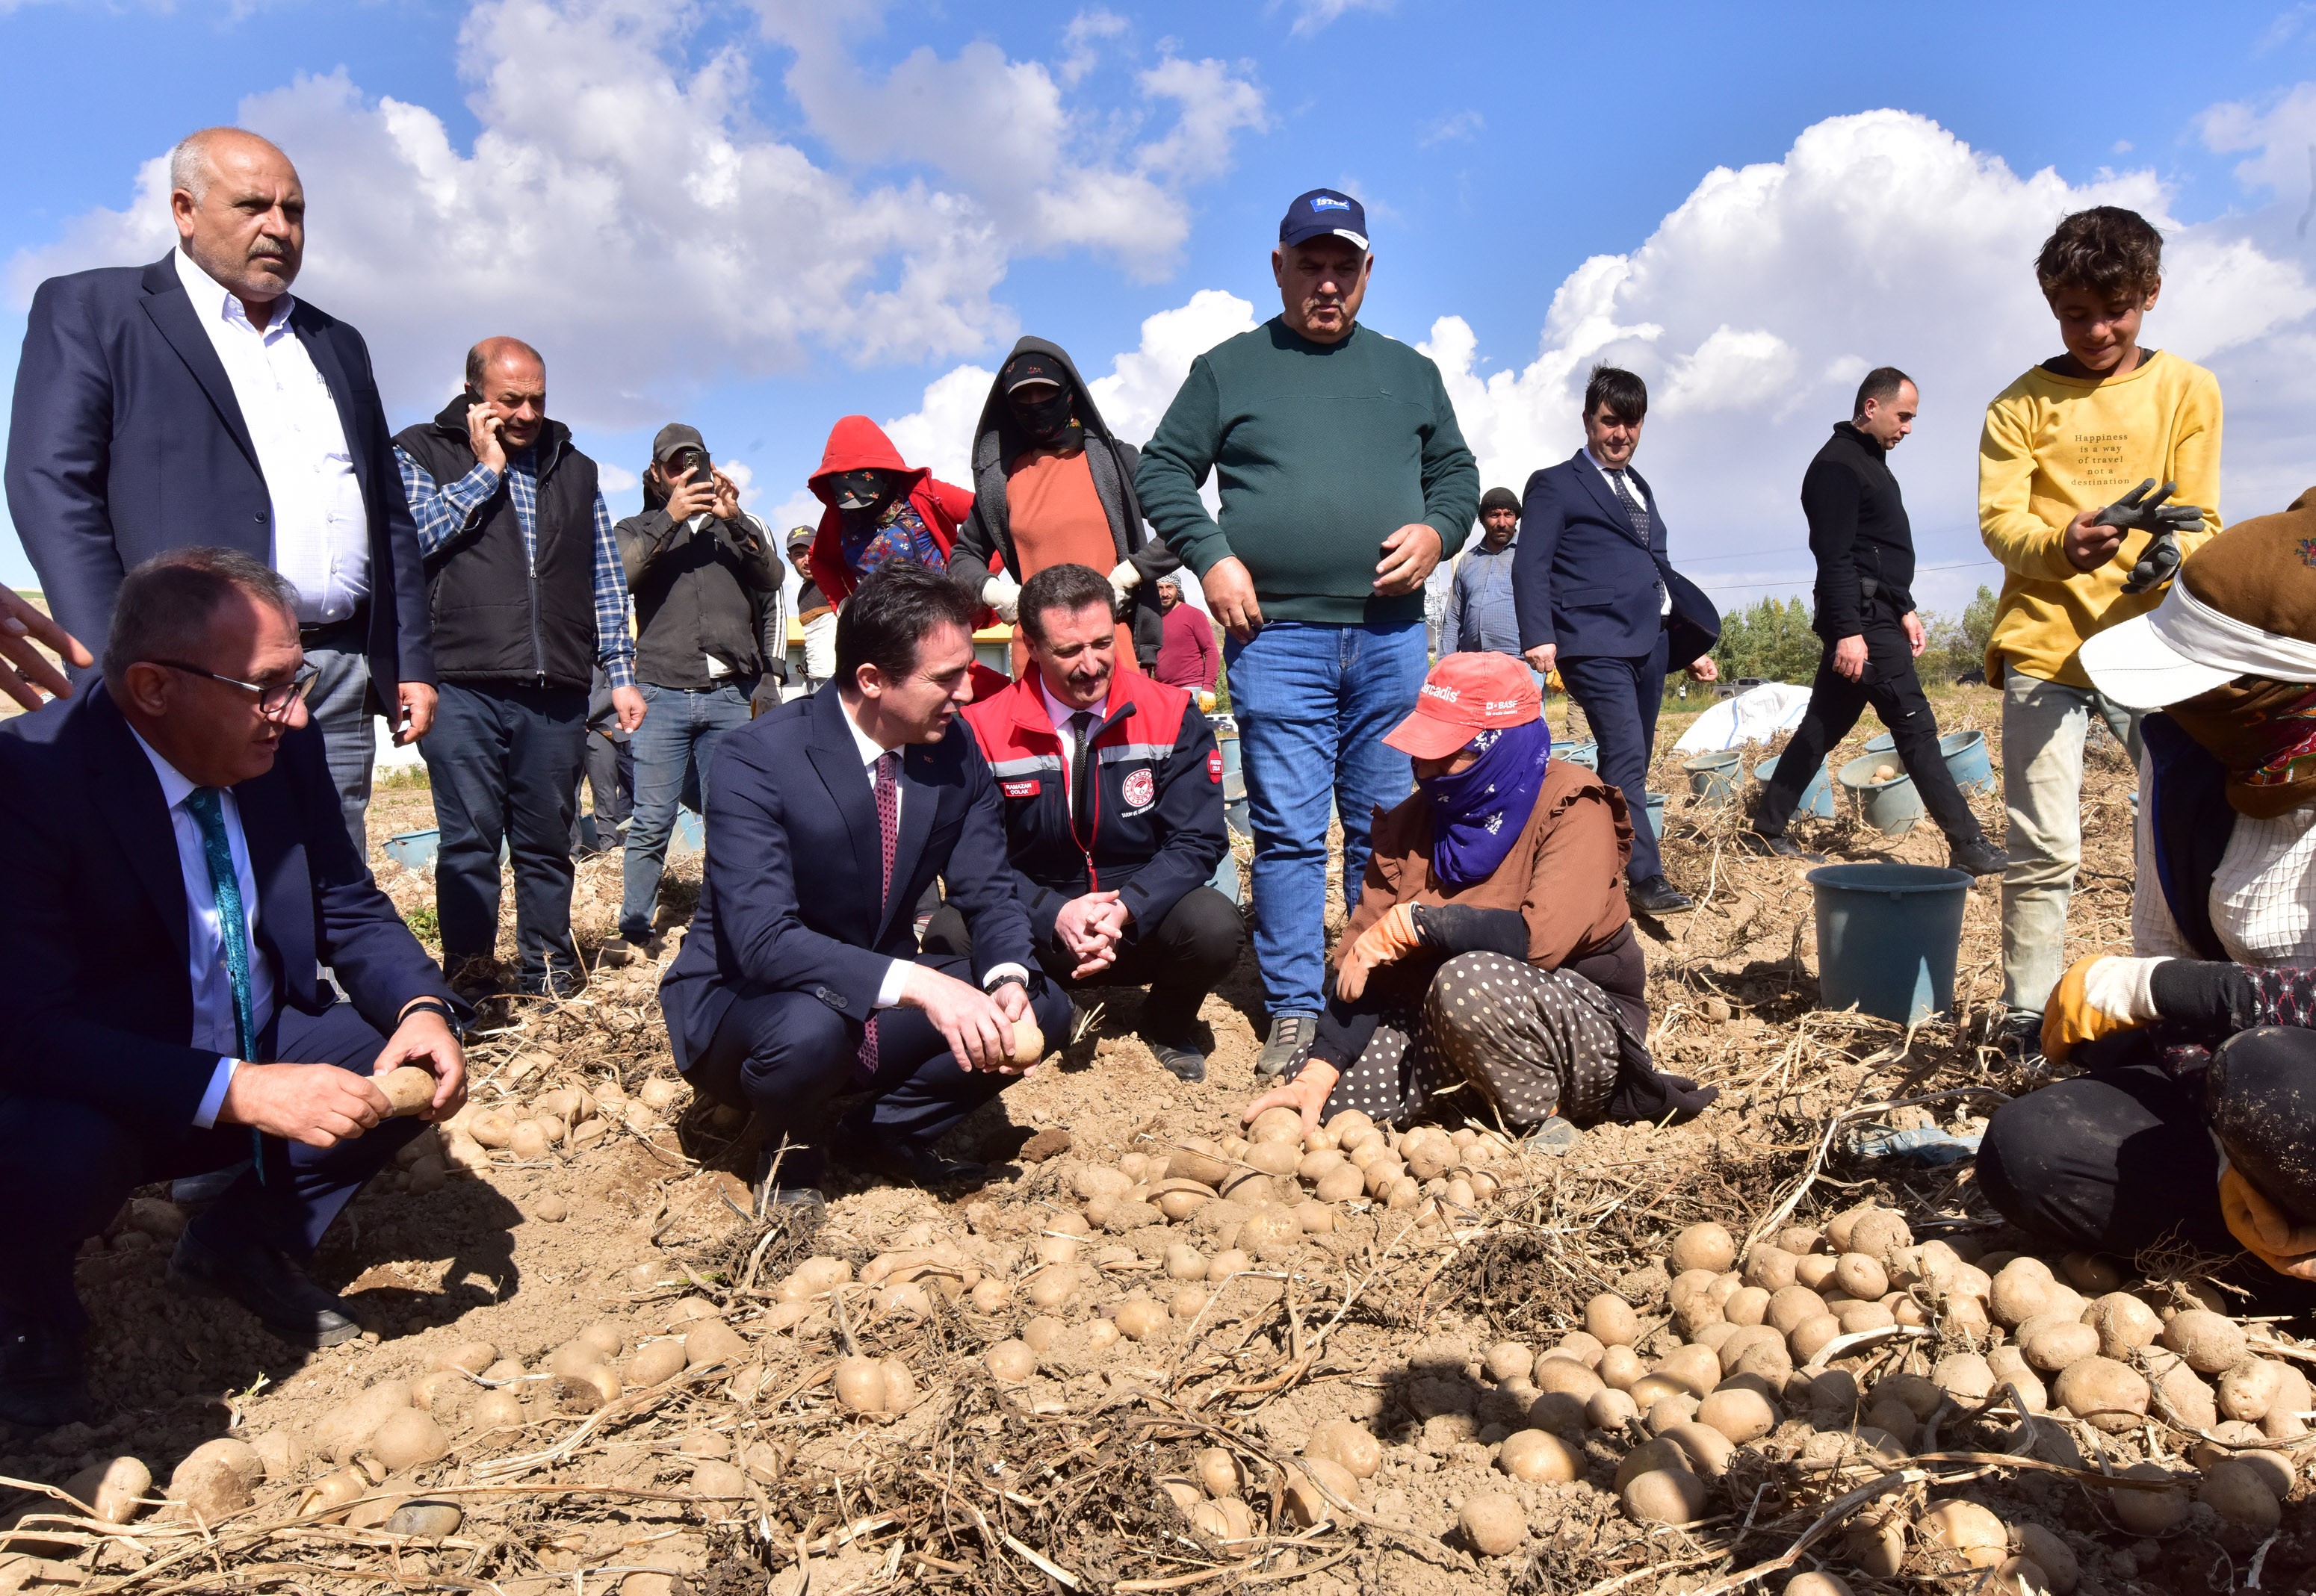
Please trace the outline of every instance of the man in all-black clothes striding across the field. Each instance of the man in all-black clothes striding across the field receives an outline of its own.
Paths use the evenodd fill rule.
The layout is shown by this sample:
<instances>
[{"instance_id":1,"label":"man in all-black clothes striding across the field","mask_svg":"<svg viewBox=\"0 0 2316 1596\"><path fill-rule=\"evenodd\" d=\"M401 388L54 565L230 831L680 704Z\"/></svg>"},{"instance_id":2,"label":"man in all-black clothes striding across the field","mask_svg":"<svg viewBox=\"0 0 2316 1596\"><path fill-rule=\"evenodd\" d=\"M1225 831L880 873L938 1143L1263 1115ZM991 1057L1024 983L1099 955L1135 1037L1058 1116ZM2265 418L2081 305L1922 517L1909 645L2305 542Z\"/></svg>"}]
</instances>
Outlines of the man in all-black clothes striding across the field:
<instances>
[{"instance_id":1,"label":"man in all-black clothes striding across the field","mask_svg":"<svg viewBox=\"0 0 2316 1596\"><path fill-rule=\"evenodd\" d=\"M1922 616L1913 607L1913 528L1890 475L1890 449L1913 431L1920 403L1904 371L1876 366L1857 385L1855 417L1834 424L1834 435L1802 477L1809 551L1818 556L1813 628L1825 639L1825 653L1809 688L1809 713L1776 757L1776 774L1753 808L1753 834L1760 852L1811 857L1786 836L1786 822L1825 751L1848 737L1871 704L1890 727L1922 806L1945 832L1955 869L1992 876L2008 859L1987 841L1945 769L1938 723L1913 669L1922 653Z\"/></svg>"}]
</instances>

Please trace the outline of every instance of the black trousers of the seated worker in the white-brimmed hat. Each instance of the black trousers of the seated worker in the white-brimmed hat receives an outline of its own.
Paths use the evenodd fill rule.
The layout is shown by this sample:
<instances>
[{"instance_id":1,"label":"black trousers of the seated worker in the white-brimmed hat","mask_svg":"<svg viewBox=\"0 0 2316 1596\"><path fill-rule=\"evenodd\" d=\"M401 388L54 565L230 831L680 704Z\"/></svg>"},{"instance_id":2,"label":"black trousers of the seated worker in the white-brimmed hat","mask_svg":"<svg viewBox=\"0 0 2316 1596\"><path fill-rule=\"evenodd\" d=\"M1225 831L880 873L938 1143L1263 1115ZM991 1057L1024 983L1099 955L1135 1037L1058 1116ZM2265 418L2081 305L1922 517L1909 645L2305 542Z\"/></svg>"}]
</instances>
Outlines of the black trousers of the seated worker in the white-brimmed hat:
<instances>
[{"instance_id":1,"label":"black trousers of the seated worker in the white-brimmed hat","mask_svg":"<svg viewBox=\"0 0 2316 1596\"><path fill-rule=\"evenodd\" d=\"M2288 1049L2316 1070L2316 1031L2247 1033L2230 1047L2244 1042ZM2203 1077L2177 1082L2156 1063L2101 1068L1999 1107L1978 1144L1978 1186L2003 1218L2052 1246L2131 1258L2184 1242L2233 1258L2242 1244L2219 1211L2219 1149L2205 1126ZM2249 1255L2230 1279L2272 1311L2316 1306L2316 1283Z\"/></svg>"}]
</instances>

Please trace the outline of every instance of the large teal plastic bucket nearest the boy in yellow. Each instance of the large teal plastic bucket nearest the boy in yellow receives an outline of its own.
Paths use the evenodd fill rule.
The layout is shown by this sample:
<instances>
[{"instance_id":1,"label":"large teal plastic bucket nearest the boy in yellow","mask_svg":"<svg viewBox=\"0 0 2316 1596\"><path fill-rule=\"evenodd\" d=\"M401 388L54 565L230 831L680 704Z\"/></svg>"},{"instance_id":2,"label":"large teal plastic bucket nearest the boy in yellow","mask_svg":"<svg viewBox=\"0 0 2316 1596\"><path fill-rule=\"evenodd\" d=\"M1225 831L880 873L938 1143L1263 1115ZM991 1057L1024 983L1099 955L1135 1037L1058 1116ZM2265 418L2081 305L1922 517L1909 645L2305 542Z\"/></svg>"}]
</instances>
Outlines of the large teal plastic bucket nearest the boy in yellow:
<instances>
[{"instance_id":1,"label":"large teal plastic bucket nearest the boy in yellow","mask_svg":"<svg viewBox=\"0 0 2316 1596\"><path fill-rule=\"evenodd\" d=\"M1827 864L1818 896L1818 1008L1901 1026L1955 1005L1955 954L1971 878L1932 864Z\"/></svg>"}]
</instances>

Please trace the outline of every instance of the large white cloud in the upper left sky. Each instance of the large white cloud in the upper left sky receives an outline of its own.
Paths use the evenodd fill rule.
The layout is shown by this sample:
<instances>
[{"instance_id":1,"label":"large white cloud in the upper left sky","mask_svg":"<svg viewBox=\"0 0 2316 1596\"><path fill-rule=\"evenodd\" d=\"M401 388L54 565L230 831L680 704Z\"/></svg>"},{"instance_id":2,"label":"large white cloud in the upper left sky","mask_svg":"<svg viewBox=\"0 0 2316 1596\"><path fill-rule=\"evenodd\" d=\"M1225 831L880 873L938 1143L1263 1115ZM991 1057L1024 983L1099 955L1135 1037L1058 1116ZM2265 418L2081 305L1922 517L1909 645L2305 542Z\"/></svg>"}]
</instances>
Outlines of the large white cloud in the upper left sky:
<instances>
[{"instance_id":1,"label":"large white cloud in the upper left sky","mask_svg":"<svg viewBox=\"0 0 2316 1596\"><path fill-rule=\"evenodd\" d=\"M813 7L774 32L797 49L808 130L866 169L848 176L762 130L746 51L686 58L702 16L665 0L477 0L459 37L472 148L433 109L371 100L343 69L243 100L239 120L306 181L299 290L368 336L389 403L431 408L493 331L537 343L558 412L591 426L646 424L702 385L813 350L857 364L984 350L1012 336L996 299L1010 257L1095 248L1163 273L1188 229L1183 190L1265 118L1239 67L1179 58L1100 116L987 44L917 51L868 81L841 30L873 14ZM1072 49L1116 37L1089 16ZM1133 239L1137 218L1156 225ZM83 213L9 262L12 299L171 239L155 158L125 211Z\"/></svg>"}]
</instances>

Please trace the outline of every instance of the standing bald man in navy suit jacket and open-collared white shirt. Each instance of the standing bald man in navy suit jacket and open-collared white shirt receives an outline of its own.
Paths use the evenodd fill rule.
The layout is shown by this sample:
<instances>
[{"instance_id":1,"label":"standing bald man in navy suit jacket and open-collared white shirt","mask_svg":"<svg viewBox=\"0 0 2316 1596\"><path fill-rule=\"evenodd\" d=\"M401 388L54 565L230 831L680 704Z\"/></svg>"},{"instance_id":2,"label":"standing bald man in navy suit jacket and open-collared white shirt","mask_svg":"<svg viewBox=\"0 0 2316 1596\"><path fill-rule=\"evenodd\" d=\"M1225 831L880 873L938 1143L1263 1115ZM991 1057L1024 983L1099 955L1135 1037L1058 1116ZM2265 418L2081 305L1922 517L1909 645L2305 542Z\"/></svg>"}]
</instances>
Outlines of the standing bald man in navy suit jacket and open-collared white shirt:
<instances>
[{"instance_id":1,"label":"standing bald man in navy suit jacket and open-collared white shirt","mask_svg":"<svg viewBox=\"0 0 2316 1596\"><path fill-rule=\"evenodd\" d=\"M181 248L32 294L7 440L7 505L67 632L97 642L120 574L164 549L241 549L290 577L310 711L357 850L371 695L396 741L433 723L419 542L371 352L290 296L306 192L236 127L169 158Z\"/></svg>"}]
</instances>

